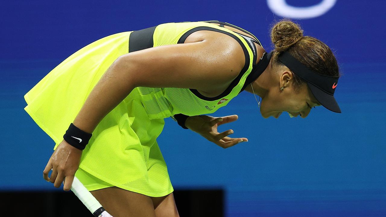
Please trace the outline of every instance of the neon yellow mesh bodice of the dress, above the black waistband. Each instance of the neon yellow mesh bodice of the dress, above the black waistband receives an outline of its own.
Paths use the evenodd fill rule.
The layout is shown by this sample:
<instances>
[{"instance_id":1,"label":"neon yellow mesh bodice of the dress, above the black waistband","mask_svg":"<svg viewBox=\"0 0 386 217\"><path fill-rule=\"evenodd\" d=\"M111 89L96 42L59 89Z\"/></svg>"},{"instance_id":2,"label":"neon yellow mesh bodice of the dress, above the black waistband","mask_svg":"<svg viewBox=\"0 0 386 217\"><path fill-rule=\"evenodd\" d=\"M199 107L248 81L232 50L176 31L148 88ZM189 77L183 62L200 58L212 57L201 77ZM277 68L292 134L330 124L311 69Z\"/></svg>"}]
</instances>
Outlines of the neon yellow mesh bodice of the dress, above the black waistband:
<instances>
[{"instance_id":1,"label":"neon yellow mesh bodice of the dress, above the black waistband","mask_svg":"<svg viewBox=\"0 0 386 217\"><path fill-rule=\"evenodd\" d=\"M214 101L203 100L197 97L188 88L138 87L137 90L141 95L141 102L144 104L150 119L166 118L179 113L189 116L211 114L217 111L218 108L227 105L230 100L240 92L245 83L245 79L251 72L253 53L245 39L239 36L239 34L215 24L206 22L182 22L158 25L154 32L154 47L166 44L177 44L179 38L185 32L199 26L221 29L222 31L230 32L231 34L239 37L244 46L247 47L250 56L250 63L247 72L242 76L238 85L233 88L232 92L230 92L227 96ZM220 100L223 100L223 103L218 104Z\"/></svg>"}]
</instances>

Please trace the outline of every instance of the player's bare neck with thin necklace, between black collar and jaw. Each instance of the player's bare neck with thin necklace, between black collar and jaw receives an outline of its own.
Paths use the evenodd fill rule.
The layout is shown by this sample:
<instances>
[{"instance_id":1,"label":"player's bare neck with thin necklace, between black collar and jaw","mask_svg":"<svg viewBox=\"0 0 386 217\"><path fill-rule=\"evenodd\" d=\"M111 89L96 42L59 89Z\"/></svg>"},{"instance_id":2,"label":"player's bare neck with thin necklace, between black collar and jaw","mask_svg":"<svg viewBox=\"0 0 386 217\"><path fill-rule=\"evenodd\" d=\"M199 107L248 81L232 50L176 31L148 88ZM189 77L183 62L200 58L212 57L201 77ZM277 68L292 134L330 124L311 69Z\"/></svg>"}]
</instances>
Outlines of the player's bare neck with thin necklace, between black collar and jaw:
<instances>
[{"instance_id":1,"label":"player's bare neck with thin necklace, between black collar and jaw","mask_svg":"<svg viewBox=\"0 0 386 217\"><path fill-rule=\"evenodd\" d=\"M245 87L245 91L249 93L255 92L256 95L259 95L261 98L264 98L268 94L269 86L271 86L270 81L273 80L273 70L272 64L269 62L267 68L261 73L261 75L256 78L256 80L252 81L251 84Z\"/></svg>"}]
</instances>

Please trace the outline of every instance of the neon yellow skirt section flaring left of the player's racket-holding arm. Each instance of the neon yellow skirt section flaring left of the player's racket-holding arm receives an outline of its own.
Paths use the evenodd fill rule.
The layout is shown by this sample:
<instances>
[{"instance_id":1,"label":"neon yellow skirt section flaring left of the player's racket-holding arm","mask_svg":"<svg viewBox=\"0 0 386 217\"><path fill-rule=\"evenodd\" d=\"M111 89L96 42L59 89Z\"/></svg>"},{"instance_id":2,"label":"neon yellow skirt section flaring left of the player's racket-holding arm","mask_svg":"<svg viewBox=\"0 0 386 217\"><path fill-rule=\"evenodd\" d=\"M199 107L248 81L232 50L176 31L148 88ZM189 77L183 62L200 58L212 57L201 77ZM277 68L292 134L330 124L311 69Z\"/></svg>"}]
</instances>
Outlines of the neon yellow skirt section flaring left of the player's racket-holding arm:
<instances>
[{"instance_id":1,"label":"neon yellow skirt section flaring left of the player's racket-holding arm","mask_svg":"<svg viewBox=\"0 0 386 217\"><path fill-rule=\"evenodd\" d=\"M63 140L66 125L74 120L103 73L118 56L128 53L128 36L122 32L83 47L24 95L28 104L24 109L56 143Z\"/></svg>"}]
</instances>

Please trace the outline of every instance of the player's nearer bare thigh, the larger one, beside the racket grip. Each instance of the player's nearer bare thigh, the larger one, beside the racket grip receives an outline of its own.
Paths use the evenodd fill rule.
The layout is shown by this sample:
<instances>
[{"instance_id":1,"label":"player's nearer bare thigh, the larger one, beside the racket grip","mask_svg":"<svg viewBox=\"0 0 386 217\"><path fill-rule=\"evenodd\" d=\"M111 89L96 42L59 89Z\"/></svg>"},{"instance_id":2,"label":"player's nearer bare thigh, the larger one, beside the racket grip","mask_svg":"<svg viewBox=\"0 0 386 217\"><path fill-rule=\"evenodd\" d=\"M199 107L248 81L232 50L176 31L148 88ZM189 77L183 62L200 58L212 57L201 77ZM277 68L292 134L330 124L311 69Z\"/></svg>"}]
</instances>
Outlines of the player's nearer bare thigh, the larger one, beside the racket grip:
<instances>
[{"instance_id":1,"label":"player's nearer bare thigh, the larger one, beside the racket grip","mask_svg":"<svg viewBox=\"0 0 386 217\"><path fill-rule=\"evenodd\" d=\"M91 194L114 217L156 217L149 196L115 186L91 191Z\"/></svg>"}]
</instances>

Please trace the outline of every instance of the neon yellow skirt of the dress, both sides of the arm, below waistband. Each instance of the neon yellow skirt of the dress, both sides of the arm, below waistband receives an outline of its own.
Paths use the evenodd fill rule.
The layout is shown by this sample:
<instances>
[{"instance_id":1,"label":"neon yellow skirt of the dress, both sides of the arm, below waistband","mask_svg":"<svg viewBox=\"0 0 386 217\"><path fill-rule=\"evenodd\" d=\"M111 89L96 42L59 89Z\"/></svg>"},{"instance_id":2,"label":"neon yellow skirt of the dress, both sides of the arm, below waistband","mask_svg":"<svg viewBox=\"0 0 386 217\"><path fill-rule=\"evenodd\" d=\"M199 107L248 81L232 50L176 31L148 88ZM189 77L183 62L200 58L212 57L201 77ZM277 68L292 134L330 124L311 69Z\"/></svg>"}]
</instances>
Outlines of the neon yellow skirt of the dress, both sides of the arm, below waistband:
<instances>
[{"instance_id":1,"label":"neon yellow skirt of the dress, both sides of the arm, below waistband","mask_svg":"<svg viewBox=\"0 0 386 217\"><path fill-rule=\"evenodd\" d=\"M49 72L24 98L24 108L56 143L73 122L93 87L119 56L129 51L122 32L83 47ZM150 120L132 91L93 131L80 168L120 188L161 197L173 192L156 138L164 120ZM49 156L47 156L47 159Z\"/></svg>"}]
</instances>

